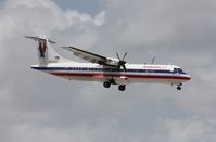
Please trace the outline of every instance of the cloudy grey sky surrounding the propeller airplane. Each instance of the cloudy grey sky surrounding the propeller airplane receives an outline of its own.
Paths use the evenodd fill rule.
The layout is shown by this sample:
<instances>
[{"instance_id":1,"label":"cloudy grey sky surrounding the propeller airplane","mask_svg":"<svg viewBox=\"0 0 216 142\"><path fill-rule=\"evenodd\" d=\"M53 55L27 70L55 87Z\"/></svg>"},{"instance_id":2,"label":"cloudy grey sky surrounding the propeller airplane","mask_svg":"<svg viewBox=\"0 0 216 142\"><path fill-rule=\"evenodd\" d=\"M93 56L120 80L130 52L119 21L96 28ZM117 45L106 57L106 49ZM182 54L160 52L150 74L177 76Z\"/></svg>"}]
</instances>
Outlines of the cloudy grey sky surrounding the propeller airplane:
<instances>
[{"instance_id":1,"label":"cloudy grey sky surrounding the propeller airplane","mask_svg":"<svg viewBox=\"0 0 216 142\"><path fill-rule=\"evenodd\" d=\"M1 142L215 142L216 1L0 1ZM192 76L181 91L68 81L30 69L47 35L62 46L128 63L176 64Z\"/></svg>"}]
</instances>

